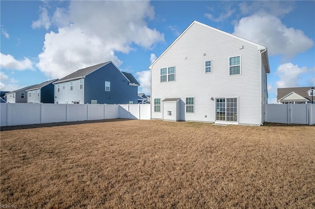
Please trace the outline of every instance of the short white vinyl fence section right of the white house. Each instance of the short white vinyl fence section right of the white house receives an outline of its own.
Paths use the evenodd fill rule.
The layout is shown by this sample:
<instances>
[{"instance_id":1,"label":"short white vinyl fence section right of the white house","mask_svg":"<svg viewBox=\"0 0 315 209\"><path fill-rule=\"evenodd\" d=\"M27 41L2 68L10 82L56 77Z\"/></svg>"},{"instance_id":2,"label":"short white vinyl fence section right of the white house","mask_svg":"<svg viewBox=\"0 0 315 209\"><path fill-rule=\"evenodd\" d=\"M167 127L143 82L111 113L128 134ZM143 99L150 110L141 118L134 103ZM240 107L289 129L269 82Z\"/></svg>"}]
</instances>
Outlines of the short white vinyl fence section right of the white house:
<instances>
[{"instance_id":1,"label":"short white vinyl fence section right of the white house","mask_svg":"<svg viewBox=\"0 0 315 209\"><path fill-rule=\"evenodd\" d=\"M315 124L315 104L266 104L265 121L286 124Z\"/></svg>"}]
</instances>

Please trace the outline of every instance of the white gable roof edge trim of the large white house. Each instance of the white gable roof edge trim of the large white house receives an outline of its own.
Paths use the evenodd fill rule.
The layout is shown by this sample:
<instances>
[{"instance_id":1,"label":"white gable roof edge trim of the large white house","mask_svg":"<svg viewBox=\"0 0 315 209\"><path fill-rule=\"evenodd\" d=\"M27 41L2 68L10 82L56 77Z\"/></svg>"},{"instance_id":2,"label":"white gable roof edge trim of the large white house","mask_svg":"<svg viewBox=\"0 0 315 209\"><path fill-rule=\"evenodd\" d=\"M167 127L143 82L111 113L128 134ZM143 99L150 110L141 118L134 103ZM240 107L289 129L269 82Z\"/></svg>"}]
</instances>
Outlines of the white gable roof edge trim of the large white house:
<instances>
[{"instance_id":1,"label":"white gable roof edge trim of the large white house","mask_svg":"<svg viewBox=\"0 0 315 209\"><path fill-rule=\"evenodd\" d=\"M194 24L198 24L198 25L201 25L201 26L208 27L208 28L210 28L210 29L212 29L212 30L215 30L215 31L217 31L217 32L223 33L223 34L228 35L228 36L230 36L230 37L233 37L233 38L239 39L239 40L241 40L241 41L247 42L247 43L249 43L249 44L252 44L252 45L256 46L258 50L266 50L265 56L267 56L267 60L266 60L266 61L268 62L267 47L265 47L265 46L263 46L263 45L260 45L260 44L257 44L257 43L255 43L255 42L249 41L249 40L247 40L247 39L245 39L245 38L241 38L241 37L239 37L239 36L236 36L236 35L233 35L233 34L231 34L231 33L225 32L225 31L223 31L223 30L219 30L219 29L217 29L217 28L215 28L215 27L205 25L205 24L203 24L203 23L200 23L200 22L194 20L194 21L192 21L192 23L175 39L175 41L173 41L173 43L172 43L164 52L162 52L162 53L158 56L158 58L149 66L149 69L151 69L152 66L158 61L158 59L159 59L165 52L167 52L167 51L177 42L177 40L180 39L180 38L185 34L185 32L186 32L192 25L194 25ZM264 57L264 59L266 59L266 58ZM269 64L268 64L268 69L266 69L266 72L267 72L267 73L270 73Z\"/></svg>"}]
</instances>

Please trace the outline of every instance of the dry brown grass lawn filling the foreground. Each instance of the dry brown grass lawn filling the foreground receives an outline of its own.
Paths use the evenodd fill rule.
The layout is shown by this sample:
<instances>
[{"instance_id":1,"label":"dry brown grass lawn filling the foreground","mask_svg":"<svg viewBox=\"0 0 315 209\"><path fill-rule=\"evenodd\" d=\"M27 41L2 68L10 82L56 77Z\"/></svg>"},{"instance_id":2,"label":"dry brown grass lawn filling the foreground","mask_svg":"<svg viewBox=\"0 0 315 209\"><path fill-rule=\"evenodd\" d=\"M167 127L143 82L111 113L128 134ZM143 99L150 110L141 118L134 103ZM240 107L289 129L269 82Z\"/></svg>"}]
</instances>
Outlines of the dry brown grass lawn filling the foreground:
<instances>
[{"instance_id":1,"label":"dry brown grass lawn filling the foreground","mask_svg":"<svg viewBox=\"0 0 315 209\"><path fill-rule=\"evenodd\" d=\"M314 126L113 120L0 137L0 204L315 208Z\"/></svg>"}]
</instances>

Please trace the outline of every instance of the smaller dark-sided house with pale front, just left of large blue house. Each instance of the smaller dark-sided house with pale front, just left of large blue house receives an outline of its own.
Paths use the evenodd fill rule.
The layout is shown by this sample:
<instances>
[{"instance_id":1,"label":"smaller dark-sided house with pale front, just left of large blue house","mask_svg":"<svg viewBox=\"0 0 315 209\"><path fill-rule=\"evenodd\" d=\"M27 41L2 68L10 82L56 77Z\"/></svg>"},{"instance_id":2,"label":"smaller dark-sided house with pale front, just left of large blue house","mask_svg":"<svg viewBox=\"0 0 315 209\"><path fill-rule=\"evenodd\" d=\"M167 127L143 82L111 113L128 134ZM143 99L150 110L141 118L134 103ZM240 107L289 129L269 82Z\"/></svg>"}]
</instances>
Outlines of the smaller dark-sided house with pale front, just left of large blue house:
<instances>
[{"instance_id":1,"label":"smaller dark-sided house with pale front, just left of large blue house","mask_svg":"<svg viewBox=\"0 0 315 209\"><path fill-rule=\"evenodd\" d=\"M54 104L54 84L58 79L48 80L26 90L27 103Z\"/></svg>"}]
</instances>

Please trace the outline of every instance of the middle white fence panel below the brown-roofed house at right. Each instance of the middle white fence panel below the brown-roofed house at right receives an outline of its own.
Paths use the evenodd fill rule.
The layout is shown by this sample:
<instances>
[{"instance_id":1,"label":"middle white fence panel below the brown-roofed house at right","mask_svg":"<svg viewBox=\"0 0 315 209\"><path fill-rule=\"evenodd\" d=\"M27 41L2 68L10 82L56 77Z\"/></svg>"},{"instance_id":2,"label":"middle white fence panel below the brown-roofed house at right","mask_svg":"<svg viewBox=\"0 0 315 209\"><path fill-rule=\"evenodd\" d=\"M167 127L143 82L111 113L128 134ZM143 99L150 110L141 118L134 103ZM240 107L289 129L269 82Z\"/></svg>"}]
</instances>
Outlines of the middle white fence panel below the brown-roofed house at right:
<instances>
[{"instance_id":1,"label":"middle white fence panel below the brown-roofed house at right","mask_svg":"<svg viewBox=\"0 0 315 209\"><path fill-rule=\"evenodd\" d=\"M290 123L308 124L308 106L307 104L290 104Z\"/></svg>"}]
</instances>

